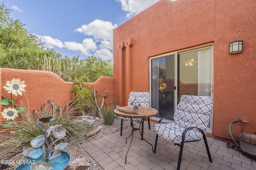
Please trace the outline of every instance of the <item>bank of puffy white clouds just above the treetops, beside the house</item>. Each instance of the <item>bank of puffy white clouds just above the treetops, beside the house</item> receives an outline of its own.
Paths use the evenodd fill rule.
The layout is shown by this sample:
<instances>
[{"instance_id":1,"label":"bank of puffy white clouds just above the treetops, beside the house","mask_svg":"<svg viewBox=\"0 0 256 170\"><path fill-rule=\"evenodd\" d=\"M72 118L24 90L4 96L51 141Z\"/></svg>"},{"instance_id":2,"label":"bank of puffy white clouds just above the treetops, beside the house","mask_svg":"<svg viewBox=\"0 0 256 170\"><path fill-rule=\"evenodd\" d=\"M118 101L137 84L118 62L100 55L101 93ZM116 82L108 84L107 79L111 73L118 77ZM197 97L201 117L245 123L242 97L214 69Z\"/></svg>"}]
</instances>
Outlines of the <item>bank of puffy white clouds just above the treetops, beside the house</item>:
<instances>
[{"instance_id":1,"label":"bank of puffy white clouds just above the treetops, beside the house","mask_svg":"<svg viewBox=\"0 0 256 170\"><path fill-rule=\"evenodd\" d=\"M82 43L74 41L62 43L60 40L46 35L38 35L38 37L45 42L46 48L66 48L72 51L79 51L83 55L90 55L92 51L95 51L94 55L96 57L100 57L102 60L108 60L113 58L113 29L115 27L117 27L116 24L102 20L94 20L88 24L82 25L80 28L75 29L75 31L93 37L84 39ZM96 42L100 42L100 44L97 46Z\"/></svg>"}]
</instances>

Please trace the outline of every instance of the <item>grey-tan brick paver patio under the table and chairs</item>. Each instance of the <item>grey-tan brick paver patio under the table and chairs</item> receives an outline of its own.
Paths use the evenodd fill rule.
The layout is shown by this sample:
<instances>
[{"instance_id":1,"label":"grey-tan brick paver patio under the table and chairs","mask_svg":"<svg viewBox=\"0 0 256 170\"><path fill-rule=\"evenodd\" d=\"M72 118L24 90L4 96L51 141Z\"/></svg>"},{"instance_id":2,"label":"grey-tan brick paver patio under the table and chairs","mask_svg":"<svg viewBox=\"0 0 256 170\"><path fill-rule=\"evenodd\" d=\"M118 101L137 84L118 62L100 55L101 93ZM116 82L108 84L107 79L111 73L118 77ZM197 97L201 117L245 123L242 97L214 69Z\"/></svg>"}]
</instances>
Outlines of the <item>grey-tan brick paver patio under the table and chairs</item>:
<instances>
[{"instance_id":1,"label":"grey-tan brick paver patio under the table and chairs","mask_svg":"<svg viewBox=\"0 0 256 170\"><path fill-rule=\"evenodd\" d=\"M144 138L154 147L156 134L154 122L151 130L144 126ZM136 125L135 127L137 127ZM83 148L100 164L104 170L175 170L178 162L180 147L173 143L158 138L156 154L152 147L145 141L140 140L139 131L134 132L132 145L127 155L131 137L125 143L126 137L132 128L100 138L90 143L85 143ZM227 143L207 137L212 163L209 162L204 141L184 144L181 170L256 170L256 162L245 158L239 151L227 147Z\"/></svg>"}]
</instances>

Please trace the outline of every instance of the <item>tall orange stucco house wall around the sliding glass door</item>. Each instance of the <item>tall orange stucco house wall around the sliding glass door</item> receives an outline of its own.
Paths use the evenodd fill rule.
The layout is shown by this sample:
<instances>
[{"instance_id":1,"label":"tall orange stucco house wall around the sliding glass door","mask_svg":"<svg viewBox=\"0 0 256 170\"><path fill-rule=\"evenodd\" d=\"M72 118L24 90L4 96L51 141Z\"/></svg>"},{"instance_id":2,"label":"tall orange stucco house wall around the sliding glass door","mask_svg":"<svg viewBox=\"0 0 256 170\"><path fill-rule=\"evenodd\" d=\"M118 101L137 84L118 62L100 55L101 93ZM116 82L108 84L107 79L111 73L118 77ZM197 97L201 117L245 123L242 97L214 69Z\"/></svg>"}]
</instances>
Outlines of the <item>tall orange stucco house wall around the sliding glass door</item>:
<instances>
[{"instance_id":1,"label":"tall orange stucco house wall around the sliding glass door","mask_svg":"<svg viewBox=\"0 0 256 170\"><path fill-rule=\"evenodd\" d=\"M149 91L149 58L207 43L214 49L213 135L231 139L228 126L238 117L249 124L232 125L232 133L256 132L256 2L245 0L160 0L113 31L114 77L119 92L120 44L132 39L132 91ZM244 41L244 51L229 54L229 43ZM124 48L126 54L126 48ZM124 57L126 57L124 55ZM126 72L124 60L124 72ZM124 74L126 80L126 74ZM126 93L124 85L124 93ZM128 97L124 98L126 103Z\"/></svg>"}]
</instances>

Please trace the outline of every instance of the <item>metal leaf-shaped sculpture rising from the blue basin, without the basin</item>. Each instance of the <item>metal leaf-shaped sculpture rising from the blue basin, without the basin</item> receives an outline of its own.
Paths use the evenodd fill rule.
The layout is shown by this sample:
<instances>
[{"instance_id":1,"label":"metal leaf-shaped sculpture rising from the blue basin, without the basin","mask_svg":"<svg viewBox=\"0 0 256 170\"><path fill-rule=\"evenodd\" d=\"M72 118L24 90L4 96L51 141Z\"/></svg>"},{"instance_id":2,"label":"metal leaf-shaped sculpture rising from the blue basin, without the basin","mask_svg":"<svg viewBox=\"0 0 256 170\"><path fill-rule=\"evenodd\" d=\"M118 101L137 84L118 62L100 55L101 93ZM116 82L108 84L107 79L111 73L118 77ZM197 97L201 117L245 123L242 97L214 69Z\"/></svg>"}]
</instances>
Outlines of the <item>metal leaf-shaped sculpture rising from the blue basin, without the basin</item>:
<instances>
[{"instance_id":1,"label":"metal leaf-shaped sculpture rising from the blue basin, without the basin","mask_svg":"<svg viewBox=\"0 0 256 170\"><path fill-rule=\"evenodd\" d=\"M54 149L52 150L53 145L66 136L66 129L62 127L62 125L48 127L48 123L53 122L54 117L42 117L38 120L35 115L35 109L33 110L33 118L36 125L38 125L44 132L44 135L39 135L38 137L32 139L30 142L31 147L23 148L23 155L27 158L41 158L42 162L36 162L36 164L32 164L30 166L31 170L35 170L38 166L43 166L46 169L52 168L52 165L49 161L60 156L61 150L68 145L68 143L59 143L58 145L55 145ZM45 124L45 127L40 123L40 121ZM53 142L51 134L56 138L56 140ZM46 146L44 143L46 143Z\"/></svg>"}]
</instances>

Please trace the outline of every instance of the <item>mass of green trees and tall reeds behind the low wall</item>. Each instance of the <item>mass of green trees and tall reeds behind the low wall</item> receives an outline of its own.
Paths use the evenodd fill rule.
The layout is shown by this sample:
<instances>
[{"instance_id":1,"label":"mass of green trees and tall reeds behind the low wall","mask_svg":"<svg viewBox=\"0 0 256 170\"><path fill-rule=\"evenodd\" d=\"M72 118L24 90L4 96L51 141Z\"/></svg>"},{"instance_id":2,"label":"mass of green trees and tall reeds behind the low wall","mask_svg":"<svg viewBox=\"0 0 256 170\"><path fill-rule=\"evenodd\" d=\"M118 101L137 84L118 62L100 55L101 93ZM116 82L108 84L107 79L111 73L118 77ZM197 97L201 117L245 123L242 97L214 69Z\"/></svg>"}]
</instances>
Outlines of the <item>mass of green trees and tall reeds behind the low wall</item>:
<instances>
[{"instance_id":1,"label":"mass of green trees and tall reeds behind the low wall","mask_svg":"<svg viewBox=\"0 0 256 170\"><path fill-rule=\"evenodd\" d=\"M62 57L54 49L45 49L44 43L24 24L10 17L11 11L0 3L0 67L52 71L67 82L77 78L94 82L100 76L113 76L112 61L94 56Z\"/></svg>"}]
</instances>

